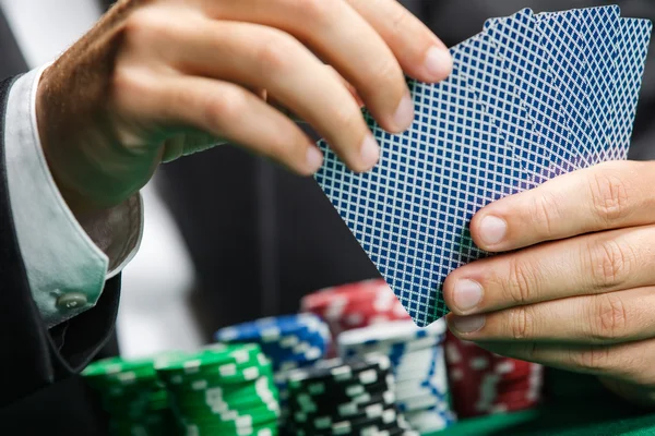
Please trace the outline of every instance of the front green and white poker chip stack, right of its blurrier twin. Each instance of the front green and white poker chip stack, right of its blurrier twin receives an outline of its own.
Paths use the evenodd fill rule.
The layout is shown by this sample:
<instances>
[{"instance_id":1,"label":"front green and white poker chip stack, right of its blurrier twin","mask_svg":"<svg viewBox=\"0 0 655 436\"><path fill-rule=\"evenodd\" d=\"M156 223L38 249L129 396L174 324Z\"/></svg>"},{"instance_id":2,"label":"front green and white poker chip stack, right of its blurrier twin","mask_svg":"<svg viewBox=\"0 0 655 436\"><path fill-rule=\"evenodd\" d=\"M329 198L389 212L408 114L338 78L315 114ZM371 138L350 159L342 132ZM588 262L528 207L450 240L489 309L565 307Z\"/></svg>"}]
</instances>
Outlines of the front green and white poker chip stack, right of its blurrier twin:
<instances>
[{"instance_id":1,"label":"front green and white poker chip stack, right of its blurrier twin","mask_svg":"<svg viewBox=\"0 0 655 436\"><path fill-rule=\"evenodd\" d=\"M277 435L278 393L257 344L217 344L155 366L179 432L188 436Z\"/></svg>"}]
</instances>

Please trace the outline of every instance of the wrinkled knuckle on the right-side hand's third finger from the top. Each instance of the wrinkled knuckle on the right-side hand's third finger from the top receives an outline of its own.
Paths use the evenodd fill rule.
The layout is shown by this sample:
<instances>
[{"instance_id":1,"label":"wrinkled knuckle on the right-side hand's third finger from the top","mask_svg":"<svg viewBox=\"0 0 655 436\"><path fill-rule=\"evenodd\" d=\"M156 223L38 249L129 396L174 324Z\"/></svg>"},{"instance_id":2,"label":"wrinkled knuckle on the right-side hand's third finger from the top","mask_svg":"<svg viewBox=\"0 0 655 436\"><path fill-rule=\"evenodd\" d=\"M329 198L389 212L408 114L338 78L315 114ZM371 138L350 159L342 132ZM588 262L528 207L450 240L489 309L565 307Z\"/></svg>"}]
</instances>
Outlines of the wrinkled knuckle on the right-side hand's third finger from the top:
<instances>
[{"instance_id":1,"label":"wrinkled knuckle on the right-side hand's third finger from the top","mask_svg":"<svg viewBox=\"0 0 655 436\"><path fill-rule=\"evenodd\" d=\"M628 316L626 306L618 295L598 295L592 312L591 338L597 342L612 342L626 334Z\"/></svg>"}]
</instances>

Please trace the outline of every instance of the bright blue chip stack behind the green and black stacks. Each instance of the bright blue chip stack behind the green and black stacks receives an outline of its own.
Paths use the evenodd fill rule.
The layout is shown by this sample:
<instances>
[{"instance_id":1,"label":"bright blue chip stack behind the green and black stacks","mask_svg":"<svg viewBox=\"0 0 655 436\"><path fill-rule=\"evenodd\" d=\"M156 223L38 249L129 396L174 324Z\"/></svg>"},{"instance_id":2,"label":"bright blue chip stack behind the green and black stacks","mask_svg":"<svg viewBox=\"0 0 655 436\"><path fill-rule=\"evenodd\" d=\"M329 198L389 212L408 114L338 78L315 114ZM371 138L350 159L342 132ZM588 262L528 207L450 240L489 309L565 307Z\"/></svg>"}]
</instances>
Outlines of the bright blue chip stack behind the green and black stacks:
<instances>
[{"instance_id":1,"label":"bright blue chip stack behind the green and black stacks","mask_svg":"<svg viewBox=\"0 0 655 436\"><path fill-rule=\"evenodd\" d=\"M330 344L330 330L315 315L297 314L225 327L216 331L215 338L226 343L259 343L273 364L284 421L288 372L310 366L322 359Z\"/></svg>"}]
</instances>

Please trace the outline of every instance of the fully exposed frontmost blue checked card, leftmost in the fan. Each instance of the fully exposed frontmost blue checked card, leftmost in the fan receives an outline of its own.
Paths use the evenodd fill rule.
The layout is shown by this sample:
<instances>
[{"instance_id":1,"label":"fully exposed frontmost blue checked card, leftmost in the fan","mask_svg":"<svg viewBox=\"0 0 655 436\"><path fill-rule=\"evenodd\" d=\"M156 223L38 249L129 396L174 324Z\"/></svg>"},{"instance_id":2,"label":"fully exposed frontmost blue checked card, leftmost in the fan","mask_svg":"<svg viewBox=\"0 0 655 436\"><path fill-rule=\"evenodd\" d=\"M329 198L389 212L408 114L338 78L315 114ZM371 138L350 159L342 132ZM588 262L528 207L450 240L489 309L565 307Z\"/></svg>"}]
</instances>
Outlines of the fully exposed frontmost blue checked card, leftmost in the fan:
<instances>
[{"instance_id":1,"label":"fully exposed frontmost blue checked card, leftmost in the fan","mask_svg":"<svg viewBox=\"0 0 655 436\"><path fill-rule=\"evenodd\" d=\"M473 215L521 183L520 162L456 69L437 85L409 81L416 120L404 134L367 116L381 145L373 170L353 173L319 143L315 180L421 327L448 313L445 277L487 255L471 240Z\"/></svg>"}]
</instances>

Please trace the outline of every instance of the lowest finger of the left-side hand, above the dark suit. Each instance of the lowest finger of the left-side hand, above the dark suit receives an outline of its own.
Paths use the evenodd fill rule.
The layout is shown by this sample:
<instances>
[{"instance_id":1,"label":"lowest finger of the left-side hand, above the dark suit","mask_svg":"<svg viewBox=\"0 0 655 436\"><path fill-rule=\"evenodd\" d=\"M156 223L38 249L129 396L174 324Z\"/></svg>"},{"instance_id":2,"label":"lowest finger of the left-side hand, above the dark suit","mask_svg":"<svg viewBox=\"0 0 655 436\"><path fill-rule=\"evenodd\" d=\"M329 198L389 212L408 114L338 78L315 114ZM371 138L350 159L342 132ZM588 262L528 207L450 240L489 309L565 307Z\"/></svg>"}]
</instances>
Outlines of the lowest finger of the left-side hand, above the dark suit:
<instances>
[{"instance_id":1,"label":"lowest finger of the left-side hand, above the dark suit","mask_svg":"<svg viewBox=\"0 0 655 436\"><path fill-rule=\"evenodd\" d=\"M322 154L291 120L266 105L260 97L231 83L192 76L156 76L124 72L132 89L124 93L139 101L121 101L129 108L139 105L142 113L156 123L192 128L240 144L267 156L300 174L313 173L322 164ZM179 145L179 144L178 144ZM198 144L199 146L206 144ZM189 144L170 149L188 154Z\"/></svg>"}]
</instances>

